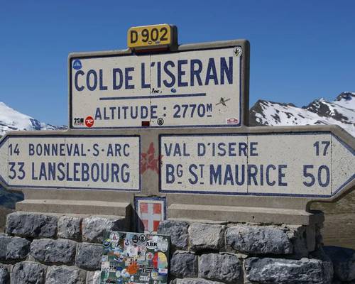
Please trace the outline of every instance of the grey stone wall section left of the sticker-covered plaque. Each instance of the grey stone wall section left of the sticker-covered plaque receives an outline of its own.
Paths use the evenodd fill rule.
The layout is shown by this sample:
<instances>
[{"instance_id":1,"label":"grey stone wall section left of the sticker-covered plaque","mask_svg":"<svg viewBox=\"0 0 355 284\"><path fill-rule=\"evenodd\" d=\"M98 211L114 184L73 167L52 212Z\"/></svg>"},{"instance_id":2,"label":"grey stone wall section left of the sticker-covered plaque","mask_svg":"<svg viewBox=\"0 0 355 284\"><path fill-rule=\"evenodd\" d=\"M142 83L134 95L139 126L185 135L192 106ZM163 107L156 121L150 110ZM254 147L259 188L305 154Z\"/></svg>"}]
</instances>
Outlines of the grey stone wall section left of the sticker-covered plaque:
<instances>
[{"instance_id":1,"label":"grey stone wall section left of the sticker-covered plaque","mask_svg":"<svg viewBox=\"0 0 355 284\"><path fill-rule=\"evenodd\" d=\"M102 232L124 217L13 212L0 234L0 284L99 284Z\"/></svg>"}]
</instances>

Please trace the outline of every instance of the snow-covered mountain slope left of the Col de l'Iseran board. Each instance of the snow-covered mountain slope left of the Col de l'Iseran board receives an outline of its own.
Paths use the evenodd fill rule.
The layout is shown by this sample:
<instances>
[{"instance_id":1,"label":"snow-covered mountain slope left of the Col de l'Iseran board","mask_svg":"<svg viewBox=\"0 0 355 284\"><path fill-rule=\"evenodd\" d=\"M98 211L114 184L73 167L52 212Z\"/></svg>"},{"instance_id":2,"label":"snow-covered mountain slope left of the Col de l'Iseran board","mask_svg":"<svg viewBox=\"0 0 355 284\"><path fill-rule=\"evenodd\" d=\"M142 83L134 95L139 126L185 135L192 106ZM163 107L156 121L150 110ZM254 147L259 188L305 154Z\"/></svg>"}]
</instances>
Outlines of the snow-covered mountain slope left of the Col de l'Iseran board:
<instances>
[{"instance_id":1,"label":"snow-covered mountain slope left of the Col de l'Iseran board","mask_svg":"<svg viewBox=\"0 0 355 284\"><path fill-rule=\"evenodd\" d=\"M13 130L56 130L66 129L66 126L53 126L21 114L0 102L0 136Z\"/></svg>"}]
</instances>

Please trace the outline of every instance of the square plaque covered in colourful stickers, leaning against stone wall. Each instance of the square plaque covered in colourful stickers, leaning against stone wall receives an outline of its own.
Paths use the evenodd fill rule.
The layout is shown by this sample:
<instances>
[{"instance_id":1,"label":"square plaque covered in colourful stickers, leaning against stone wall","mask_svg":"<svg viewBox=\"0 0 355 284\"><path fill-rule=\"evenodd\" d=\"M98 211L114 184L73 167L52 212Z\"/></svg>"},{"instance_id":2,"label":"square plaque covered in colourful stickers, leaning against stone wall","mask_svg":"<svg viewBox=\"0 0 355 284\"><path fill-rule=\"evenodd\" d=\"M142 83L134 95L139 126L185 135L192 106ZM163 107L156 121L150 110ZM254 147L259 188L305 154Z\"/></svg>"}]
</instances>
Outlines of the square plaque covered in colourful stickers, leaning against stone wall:
<instances>
[{"instance_id":1,"label":"square plaque covered in colourful stickers, leaning against stone wall","mask_svg":"<svg viewBox=\"0 0 355 284\"><path fill-rule=\"evenodd\" d=\"M168 282L170 236L104 232L101 284Z\"/></svg>"}]
</instances>

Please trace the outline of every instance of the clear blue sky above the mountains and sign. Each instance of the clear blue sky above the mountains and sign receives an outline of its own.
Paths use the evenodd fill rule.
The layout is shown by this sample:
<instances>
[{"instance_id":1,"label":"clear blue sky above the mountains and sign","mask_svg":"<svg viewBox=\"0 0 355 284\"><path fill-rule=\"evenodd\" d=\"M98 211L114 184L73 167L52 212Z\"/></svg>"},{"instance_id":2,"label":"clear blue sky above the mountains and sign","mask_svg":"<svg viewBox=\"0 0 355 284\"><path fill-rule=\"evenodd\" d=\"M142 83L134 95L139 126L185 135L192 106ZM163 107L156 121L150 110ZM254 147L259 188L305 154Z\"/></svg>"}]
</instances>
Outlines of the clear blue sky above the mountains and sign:
<instances>
[{"instance_id":1,"label":"clear blue sky above the mountains and sign","mask_svg":"<svg viewBox=\"0 0 355 284\"><path fill-rule=\"evenodd\" d=\"M179 43L251 42L257 99L334 99L355 90L355 1L0 0L0 102L67 124L67 55L126 48L131 26L171 23Z\"/></svg>"}]
</instances>

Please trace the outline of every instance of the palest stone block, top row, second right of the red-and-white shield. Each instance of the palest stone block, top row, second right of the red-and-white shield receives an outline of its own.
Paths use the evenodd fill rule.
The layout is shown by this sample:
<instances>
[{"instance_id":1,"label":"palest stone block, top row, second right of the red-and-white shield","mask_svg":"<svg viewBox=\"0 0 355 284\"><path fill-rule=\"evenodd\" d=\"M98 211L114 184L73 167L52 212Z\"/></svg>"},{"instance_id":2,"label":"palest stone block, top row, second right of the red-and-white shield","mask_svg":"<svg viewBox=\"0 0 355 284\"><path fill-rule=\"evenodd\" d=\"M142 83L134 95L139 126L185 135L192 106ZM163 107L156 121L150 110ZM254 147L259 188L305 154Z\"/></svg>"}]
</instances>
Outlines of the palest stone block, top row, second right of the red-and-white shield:
<instances>
[{"instance_id":1,"label":"palest stone block, top row, second right of the red-and-white shield","mask_svg":"<svg viewBox=\"0 0 355 284\"><path fill-rule=\"evenodd\" d=\"M221 225L193 223L190 225L189 234L190 249L193 251L219 250L224 245L224 227Z\"/></svg>"}]
</instances>

